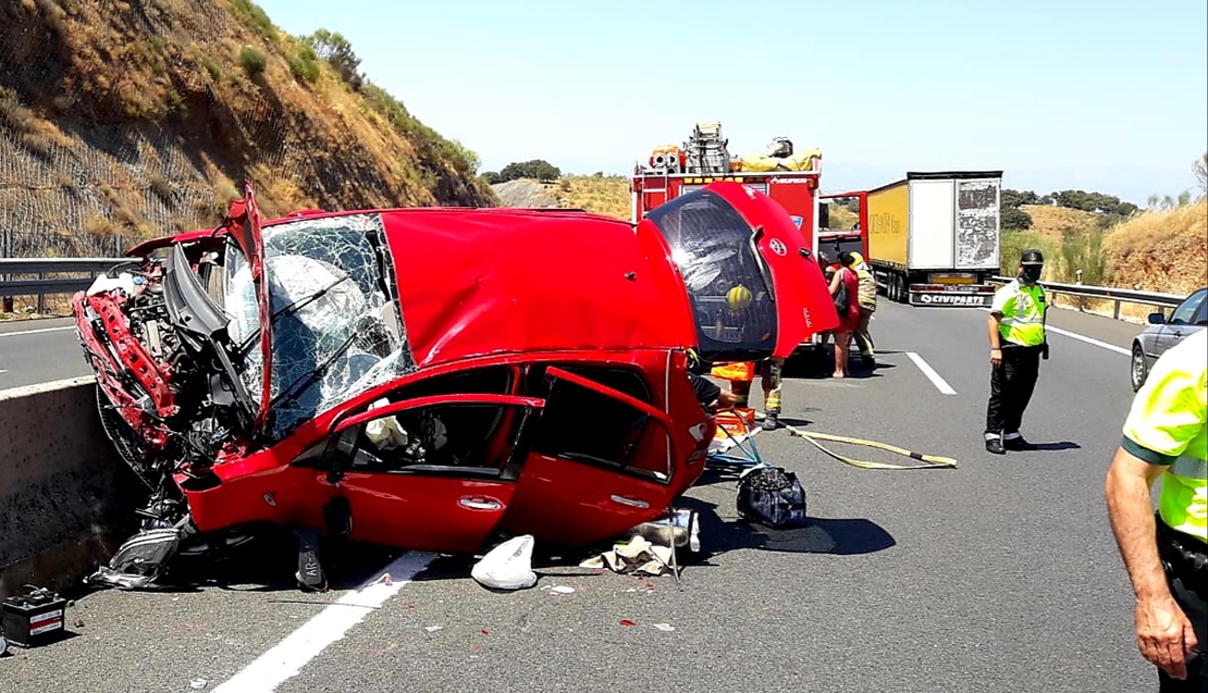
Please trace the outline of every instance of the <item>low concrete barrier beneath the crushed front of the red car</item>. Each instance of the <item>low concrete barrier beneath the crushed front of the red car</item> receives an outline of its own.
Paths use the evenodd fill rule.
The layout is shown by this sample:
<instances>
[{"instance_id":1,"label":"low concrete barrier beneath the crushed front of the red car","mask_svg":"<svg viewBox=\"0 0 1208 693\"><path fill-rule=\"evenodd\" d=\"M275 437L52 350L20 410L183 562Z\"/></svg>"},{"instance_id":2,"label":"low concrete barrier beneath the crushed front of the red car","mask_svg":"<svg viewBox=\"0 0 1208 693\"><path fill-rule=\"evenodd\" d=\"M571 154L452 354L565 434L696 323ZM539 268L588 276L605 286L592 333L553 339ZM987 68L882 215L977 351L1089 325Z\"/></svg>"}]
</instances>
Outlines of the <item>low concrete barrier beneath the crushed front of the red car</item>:
<instances>
[{"instance_id":1,"label":"low concrete barrier beneath the crushed front of the red car","mask_svg":"<svg viewBox=\"0 0 1208 693\"><path fill-rule=\"evenodd\" d=\"M0 390L0 599L68 590L108 560L140 485L101 429L94 378Z\"/></svg>"}]
</instances>

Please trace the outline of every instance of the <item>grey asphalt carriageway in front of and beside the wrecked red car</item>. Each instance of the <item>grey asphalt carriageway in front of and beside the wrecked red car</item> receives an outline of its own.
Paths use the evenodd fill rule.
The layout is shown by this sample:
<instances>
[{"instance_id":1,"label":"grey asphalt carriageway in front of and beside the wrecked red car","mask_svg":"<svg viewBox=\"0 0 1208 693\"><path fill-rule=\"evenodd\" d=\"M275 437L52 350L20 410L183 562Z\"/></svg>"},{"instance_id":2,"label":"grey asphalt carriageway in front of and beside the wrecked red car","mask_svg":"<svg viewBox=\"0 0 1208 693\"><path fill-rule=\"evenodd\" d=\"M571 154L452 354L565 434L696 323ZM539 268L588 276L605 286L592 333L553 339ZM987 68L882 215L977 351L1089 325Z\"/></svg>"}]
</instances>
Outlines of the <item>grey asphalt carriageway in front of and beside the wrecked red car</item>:
<instances>
[{"instance_id":1,"label":"grey asphalt carriageway in front of and beside the wrecked red car","mask_svg":"<svg viewBox=\"0 0 1208 693\"><path fill-rule=\"evenodd\" d=\"M0 691L227 681L219 689L233 691L266 680L281 692L1155 689L1102 500L1132 395L1128 359L1110 346L1127 348L1140 328L1056 314L1058 328L1102 344L1051 337L1023 427L1044 449L1003 458L981 438L985 316L883 302L872 324L879 368L843 380L797 368L785 385L794 425L948 455L958 468L861 470L783 430L760 433L763 458L801 476L812 525L741 522L734 479L712 473L681 503L701 511L707 554L679 586L579 569L580 557L542 557L538 587L515 593L482 588L472 560L454 558L402 583L406 561L426 563L403 555L396 593L368 599L387 589L377 586L366 604L325 611L395 557L331 558L338 589L316 595L294 589L295 566L263 549L225 567L181 566L158 592L82 596L69 610L75 636L0 659ZM18 339L0 337L0 363ZM277 664L254 665L274 647Z\"/></svg>"}]
</instances>

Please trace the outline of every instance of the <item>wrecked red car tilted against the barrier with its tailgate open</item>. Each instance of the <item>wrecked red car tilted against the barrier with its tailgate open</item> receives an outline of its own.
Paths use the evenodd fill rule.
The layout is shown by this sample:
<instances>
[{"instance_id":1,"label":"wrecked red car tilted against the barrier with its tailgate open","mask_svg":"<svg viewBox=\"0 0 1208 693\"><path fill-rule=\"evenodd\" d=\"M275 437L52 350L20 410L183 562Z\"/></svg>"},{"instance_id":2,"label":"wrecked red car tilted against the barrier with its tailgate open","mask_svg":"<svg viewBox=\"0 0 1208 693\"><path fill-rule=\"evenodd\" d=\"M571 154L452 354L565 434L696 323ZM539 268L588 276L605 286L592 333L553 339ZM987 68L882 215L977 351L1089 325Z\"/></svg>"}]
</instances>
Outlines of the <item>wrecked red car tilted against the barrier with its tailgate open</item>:
<instances>
[{"instance_id":1,"label":"wrecked red car tilted against the barrier with its tailgate open","mask_svg":"<svg viewBox=\"0 0 1208 693\"><path fill-rule=\"evenodd\" d=\"M449 553L675 524L714 435L690 355L786 356L837 324L789 216L736 184L635 226L262 222L248 186L221 227L129 255L72 304L106 432L149 489L143 531L95 576L124 587L265 523ZM755 299L719 310L736 285Z\"/></svg>"}]
</instances>

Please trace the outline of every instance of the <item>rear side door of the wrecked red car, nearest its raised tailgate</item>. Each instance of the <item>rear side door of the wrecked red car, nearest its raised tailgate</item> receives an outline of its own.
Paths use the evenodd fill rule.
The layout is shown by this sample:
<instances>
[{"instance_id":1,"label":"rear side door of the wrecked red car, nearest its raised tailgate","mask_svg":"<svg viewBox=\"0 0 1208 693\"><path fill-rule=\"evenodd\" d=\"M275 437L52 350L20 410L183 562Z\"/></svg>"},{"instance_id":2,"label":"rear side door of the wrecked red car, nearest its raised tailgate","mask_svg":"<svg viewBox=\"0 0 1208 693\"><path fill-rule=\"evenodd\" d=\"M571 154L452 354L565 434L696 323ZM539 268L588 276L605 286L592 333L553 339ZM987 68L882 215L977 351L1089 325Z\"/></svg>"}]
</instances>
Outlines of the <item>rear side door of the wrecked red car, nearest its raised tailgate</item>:
<instances>
[{"instance_id":1,"label":"rear side door of the wrecked red car, nearest its raised tailgate","mask_svg":"<svg viewBox=\"0 0 1208 693\"><path fill-rule=\"evenodd\" d=\"M640 377L637 383L640 388ZM617 536L667 509L680 459L666 412L564 368L545 371L547 395L529 437L501 529L582 544Z\"/></svg>"}]
</instances>

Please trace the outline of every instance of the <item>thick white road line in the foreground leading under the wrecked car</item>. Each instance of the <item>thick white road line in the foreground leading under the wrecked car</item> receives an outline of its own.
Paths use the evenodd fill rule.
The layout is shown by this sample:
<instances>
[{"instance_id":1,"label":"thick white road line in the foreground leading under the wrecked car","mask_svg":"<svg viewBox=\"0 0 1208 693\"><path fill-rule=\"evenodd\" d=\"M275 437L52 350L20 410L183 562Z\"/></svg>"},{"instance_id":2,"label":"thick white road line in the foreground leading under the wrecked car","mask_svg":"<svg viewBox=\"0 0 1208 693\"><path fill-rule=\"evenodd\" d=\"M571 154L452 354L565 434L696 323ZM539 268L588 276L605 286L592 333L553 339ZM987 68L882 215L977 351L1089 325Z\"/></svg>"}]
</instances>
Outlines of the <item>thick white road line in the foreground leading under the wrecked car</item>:
<instances>
[{"instance_id":1,"label":"thick white road line in the foreground leading under the wrecked car","mask_svg":"<svg viewBox=\"0 0 1208 693\"><path fill-rule=\"evenodd\" d=\"M329 645L342 639L348 630L360 623L370 611L381 607L436 559L435 553L405 553L388 565L383 572L390 573L391 584L378 582L379 577L366 582L356 592L339 598L318 616L307 621L268 652L261 654L246 669L223 682L214 693L269 693L314 659ZM381 573L379 573L381 575Z\"/></svg>"}]
</instances>

